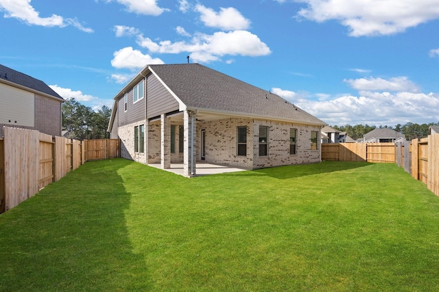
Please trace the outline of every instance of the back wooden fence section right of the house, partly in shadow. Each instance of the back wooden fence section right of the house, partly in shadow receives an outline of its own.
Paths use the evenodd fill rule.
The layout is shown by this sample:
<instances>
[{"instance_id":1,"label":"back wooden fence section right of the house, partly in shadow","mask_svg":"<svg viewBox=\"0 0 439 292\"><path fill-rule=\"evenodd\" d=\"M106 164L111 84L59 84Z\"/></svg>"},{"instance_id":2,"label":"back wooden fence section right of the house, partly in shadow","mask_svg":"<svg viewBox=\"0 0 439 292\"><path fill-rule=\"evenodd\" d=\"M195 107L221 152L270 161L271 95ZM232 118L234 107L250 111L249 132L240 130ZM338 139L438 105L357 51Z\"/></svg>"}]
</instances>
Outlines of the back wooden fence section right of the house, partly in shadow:
<instances>
[{"instance_id":1,"label":"back wooden fence section right of the house, partly in shadow","mask_svg":"<svg viewBox=\"0 0 439 292\"><path fill-rule=\"evenodd\" d=\"M322 144L322 160L395 162L394 143L329 143Z\"/></svg>"}]
</instances>

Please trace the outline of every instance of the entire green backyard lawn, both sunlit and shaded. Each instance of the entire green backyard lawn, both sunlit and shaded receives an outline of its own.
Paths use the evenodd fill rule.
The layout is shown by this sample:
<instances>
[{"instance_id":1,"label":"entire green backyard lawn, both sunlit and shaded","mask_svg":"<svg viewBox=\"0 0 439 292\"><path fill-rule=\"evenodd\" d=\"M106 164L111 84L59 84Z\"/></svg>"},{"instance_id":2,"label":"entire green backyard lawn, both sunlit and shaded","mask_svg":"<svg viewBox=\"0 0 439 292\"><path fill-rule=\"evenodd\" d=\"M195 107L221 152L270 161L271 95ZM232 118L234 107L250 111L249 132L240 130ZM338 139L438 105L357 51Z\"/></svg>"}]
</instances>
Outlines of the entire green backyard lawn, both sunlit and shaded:
<instances>
[{"instance_id":1,"label":"entire green backyard lawn, both sunlit and shaded","mask_svg":"<svg viewBox=\"0 0 439 292\"><path fill-rule=\"evenodd\" d=\"M0 246L0 291L439 291L439 198L394 164L112 159L0 215Z\"/></svg>"}]
</instances>

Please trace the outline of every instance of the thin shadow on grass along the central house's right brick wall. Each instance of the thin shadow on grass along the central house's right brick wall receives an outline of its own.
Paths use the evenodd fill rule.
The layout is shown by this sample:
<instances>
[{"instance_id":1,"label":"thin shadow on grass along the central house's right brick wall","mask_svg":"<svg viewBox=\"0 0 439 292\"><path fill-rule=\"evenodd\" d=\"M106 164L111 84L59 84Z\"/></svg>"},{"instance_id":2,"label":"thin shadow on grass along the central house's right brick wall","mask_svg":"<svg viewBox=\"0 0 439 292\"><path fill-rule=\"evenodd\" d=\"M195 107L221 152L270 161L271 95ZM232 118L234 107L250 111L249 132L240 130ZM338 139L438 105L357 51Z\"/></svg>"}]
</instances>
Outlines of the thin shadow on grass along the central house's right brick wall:
<instances>
[{"instance_id":1,"label":"thin shadow on grass along the central house's right brick wall","mask_svg":"<svg viewBox=\"0 0 439 292\"><path fill-rule=\"evenodd\" d=\"M330 172L340 172L344 170L353 170L355 168L364 168L372 165L369 162L344 162L344 161L322 161L321 163L309 163L299 165L284 165L276 166L274 168L261 168L259 170L252 170L245 172L242 175L266 175L278 179L289 179L300 176L310 176L316 174L324 174ZM239 176L239 173L234 173Z\"/></svg>"}]
</instances>

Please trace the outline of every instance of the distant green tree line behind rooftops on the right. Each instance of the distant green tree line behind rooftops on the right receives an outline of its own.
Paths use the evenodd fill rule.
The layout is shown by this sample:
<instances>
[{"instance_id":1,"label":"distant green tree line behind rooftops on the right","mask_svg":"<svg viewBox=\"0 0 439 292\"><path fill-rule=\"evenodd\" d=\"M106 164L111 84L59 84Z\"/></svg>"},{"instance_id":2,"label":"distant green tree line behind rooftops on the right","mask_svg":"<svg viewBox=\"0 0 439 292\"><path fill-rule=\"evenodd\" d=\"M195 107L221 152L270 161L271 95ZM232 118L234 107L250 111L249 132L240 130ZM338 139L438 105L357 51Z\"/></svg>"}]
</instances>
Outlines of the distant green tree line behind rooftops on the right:
<instances>
[{"instance_id":1,"label":"distant green tree line behind rooftops on the right","mask_svg":"<svg viewBox=\"0 0 439 292\"><path fill-rule=\"evenodd\" d=\"M397 132L401 132L405 135L405 139L413 140L417 138L423 138L428 136L428 129L430 126L439 125L439 122L436 124L431 122L429 124L414 124L412 122L407 122L407 124L396 124L395 127L388 126L379 126L379 129L388 128ZM346 124L344 126L331 126L331 128L346 132L346 135L351 137L353 140L357 140L362 138L366 133L377 129L376 126L369 126L368 124L356 124L355 126L351 126L350 124Z\"/></svg>"}]
</instances>

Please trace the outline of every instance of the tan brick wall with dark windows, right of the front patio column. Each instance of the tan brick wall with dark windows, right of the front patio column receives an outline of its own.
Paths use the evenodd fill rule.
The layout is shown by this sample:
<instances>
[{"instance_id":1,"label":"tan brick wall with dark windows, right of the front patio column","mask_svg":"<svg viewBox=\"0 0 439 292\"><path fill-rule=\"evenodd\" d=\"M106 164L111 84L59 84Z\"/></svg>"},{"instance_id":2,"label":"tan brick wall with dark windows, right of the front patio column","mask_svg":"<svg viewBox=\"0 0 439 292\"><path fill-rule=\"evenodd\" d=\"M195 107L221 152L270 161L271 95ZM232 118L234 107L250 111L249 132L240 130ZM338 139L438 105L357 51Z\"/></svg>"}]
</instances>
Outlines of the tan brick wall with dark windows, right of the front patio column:
<instances>
[{"instance_id":1,"label":"tan brick wall with dark windows, right of the front patio column","mask_svg":"<svg viewBox=\"0 0 439 292\"><path fill-rule=\"evenodd\" d=\"M237 127L247 127L247 155L237 156ZM268 127L268 156L259 157L259 126ZM197 157L200 159L200 131L206 131L206 162L235 165L243 168L265 168L277 165L312 163L320 161L318 150L311 150L311 131L320 133L320 127L228 118L197 125ZM289 155L289 130L297 130L296 155Z\"/></svg>"}]
</instances>

